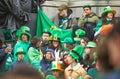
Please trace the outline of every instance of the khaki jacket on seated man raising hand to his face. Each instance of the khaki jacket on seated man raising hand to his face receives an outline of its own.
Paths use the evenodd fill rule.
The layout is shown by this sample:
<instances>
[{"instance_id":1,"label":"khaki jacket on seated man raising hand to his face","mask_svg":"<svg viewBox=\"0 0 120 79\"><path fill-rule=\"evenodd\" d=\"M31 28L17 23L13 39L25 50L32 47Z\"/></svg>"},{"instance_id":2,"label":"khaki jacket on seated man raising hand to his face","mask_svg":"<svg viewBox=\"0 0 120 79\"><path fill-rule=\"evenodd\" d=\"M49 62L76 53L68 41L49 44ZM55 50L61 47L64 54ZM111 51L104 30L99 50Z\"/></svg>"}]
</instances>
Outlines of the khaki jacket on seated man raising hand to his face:
<instances>
[{"instance_id":1,"label":"khaki jacket on seated man raising hand to his face","mask_svg":"<svg viewBox=\"0 0 120 79\"><path fill-rule=\"evenodd\" d=\"M92 12L90 15L86 16L85 18L80 17L79 20L78 20L78 26L83 28L85 22L93 22L93 23L97 24L98 21L99 21L98 16L95 13Z\"/></svg>"}]
</instances>

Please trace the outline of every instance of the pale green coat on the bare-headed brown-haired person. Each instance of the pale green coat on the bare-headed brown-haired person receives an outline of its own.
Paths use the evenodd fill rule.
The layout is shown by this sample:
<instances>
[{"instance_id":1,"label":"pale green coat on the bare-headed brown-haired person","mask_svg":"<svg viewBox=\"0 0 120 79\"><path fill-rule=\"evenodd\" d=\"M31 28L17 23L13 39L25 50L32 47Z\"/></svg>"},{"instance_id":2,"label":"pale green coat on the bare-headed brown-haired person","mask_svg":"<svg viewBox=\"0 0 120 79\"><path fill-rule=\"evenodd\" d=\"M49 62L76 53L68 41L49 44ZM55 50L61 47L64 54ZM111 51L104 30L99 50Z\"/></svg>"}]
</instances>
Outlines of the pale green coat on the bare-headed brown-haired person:
<instances>
[{"instance_id":1,"label":"pale green coat on the bare-headed brown-haired person","mask_svg":"<svg viewBox=\"0 0 120 79\"><path fill-rule=\"evenodd\" d=\"M28 50L28 57L29 57L29 62L32 64L35 68L40 69L40 52L34 47L30 47Z\"/></svg>"}]
</instances>

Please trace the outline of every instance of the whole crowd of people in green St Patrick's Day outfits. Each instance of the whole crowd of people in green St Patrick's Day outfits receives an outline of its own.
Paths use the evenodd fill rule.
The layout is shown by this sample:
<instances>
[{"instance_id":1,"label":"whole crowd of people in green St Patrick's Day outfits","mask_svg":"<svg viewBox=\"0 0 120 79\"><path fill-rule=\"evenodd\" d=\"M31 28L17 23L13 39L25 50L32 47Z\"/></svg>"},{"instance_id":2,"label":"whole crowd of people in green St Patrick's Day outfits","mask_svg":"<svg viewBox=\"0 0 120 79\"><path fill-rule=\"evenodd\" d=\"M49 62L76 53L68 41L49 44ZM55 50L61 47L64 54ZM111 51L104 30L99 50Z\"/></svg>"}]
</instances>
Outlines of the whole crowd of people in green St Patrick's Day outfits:
<instances>
[{"instance_id":1,"label":"whole crowd of people in green St Patrick's Day outfits","mask_svg":"<svg viewBox=\"0 0 120 79\"><path fill-rule=\"evenodd\" d=\"M41 37L32 36L27 26L15 36L8 29L5 41L0 37L0 79L119 79L116 11L107 6L99 18L85 5L77 21L66 5L58 10L52 21L60 29L71 29L72 37L61 40L59 29L44 30Z\"/></svg>"}]
</instances>

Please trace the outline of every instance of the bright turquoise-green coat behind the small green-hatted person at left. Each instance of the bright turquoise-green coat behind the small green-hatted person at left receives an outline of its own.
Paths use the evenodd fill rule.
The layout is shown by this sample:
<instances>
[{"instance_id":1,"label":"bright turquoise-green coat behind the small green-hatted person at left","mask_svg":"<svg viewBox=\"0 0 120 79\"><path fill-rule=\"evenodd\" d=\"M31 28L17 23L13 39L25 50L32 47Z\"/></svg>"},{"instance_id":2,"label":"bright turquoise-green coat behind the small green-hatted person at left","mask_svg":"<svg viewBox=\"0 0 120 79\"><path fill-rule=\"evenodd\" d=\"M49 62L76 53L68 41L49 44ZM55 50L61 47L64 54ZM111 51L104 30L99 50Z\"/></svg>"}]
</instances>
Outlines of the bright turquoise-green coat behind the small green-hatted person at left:
<instances>
[{"instance_id":1,"label":"bright turquoise-green coat behind the small green-hatted person at left","mask_svg":"<svg viewBox=\"0 0 120 79\"><path fill-rule=\"evenodd\" d=\"M30 42L26 43L26 42L23 42L22 40L18 41L15 44L15 46L14 46L14 61L17 60L16 51L17 51L17 48L19 48L19 47L22 47L23 50L25 51L24 60L28 61L28 54L27 54L27 52L28 52L29 45L30 45Z\"/></svg>"}]
</instances>

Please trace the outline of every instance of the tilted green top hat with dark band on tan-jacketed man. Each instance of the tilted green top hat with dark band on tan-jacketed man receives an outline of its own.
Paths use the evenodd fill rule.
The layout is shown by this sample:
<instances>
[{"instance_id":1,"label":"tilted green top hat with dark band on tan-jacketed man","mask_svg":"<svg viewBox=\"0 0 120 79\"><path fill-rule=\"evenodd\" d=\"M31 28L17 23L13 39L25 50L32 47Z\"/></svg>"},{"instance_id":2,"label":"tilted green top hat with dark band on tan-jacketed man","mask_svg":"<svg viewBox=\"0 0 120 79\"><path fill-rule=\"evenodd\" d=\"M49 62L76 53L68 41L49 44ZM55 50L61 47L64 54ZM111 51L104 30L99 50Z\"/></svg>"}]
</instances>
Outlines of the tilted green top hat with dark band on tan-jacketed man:
<instances>
[{"instance_id":1,"label":"tilted green top hat with dark band on tan-jacketed man","mask_svg":"<svg viewBox=\"0 0 120 79\"><path fill-rule=\"evenodd\" d=\"M81 45L77 45L76 47L74 47L74 49L69 52L68 54L70 56L72 56L75 60L78 60L79 55L84 51L84 47Z\"/></svg>"}]
</instances>

